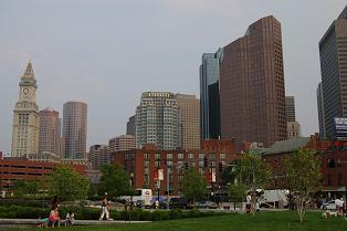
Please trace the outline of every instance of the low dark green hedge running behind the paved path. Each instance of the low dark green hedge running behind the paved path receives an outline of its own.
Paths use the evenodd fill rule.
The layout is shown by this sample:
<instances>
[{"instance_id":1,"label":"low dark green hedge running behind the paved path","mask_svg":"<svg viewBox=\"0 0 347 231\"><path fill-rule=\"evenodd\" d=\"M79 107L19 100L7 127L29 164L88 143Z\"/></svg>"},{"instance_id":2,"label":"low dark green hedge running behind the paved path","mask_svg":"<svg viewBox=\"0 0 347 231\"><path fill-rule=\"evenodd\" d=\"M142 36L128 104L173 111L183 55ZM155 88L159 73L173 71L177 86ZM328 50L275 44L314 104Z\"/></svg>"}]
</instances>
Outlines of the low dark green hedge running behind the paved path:
<instances>
[{"instance_id":1,"label":"low dark green hedge running behind the paved path","mask_svg":"<svg viewBox=\"0 0 347 231\"><path fill-rule=\"evenodd\" d=\"M97 220L99 218L101 209L87 207L59 207L59 212L62 219L65 218L69 211L75 213L76 220ZM134 209L133 211L111 210L111 218L114 220L139 220L139 221L159 221L174 220L183 218L200 218L225 214L223 212L201 212L197 209L190 211L182 211L180 209L174 210L141 210ZM50 209L36 207L21 207L21 206L0 206L0 218L23 218L36 219L39 216L49 217Z\"/></svg>"}]
</instances>

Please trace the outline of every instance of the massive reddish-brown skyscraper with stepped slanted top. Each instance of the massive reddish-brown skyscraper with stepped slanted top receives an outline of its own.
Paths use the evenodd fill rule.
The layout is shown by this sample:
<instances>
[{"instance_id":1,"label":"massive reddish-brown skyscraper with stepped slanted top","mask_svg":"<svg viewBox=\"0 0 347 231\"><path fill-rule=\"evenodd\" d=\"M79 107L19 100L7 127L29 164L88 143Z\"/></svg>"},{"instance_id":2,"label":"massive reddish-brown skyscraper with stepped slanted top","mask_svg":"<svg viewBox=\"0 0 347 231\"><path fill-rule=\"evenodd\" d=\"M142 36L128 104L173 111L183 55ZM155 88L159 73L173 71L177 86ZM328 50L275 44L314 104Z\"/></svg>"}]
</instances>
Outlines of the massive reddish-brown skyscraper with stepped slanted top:
<instances>
[{"instance_id":1,"label":"massive reddish-brown skyscraper with stepped slanted top","mask_svg":"<svg viewBox=\"0 0 347 231\"><path fill-rule=\"evenodd\" d=\"M286 138L281 23L251 24L223 48L220 62L221 136L265 147Z\"/></svg>"}]
</instances>

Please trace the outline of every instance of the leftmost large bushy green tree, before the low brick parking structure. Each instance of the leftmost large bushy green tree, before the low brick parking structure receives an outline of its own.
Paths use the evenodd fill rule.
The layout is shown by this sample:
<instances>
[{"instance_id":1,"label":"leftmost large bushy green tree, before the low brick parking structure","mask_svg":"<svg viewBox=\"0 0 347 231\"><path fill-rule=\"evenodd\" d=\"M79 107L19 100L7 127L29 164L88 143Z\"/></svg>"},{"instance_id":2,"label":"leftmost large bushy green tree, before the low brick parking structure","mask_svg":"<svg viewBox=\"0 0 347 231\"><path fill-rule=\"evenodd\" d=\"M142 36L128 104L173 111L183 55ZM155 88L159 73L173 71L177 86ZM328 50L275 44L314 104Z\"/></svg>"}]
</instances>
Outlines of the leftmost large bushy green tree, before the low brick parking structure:
<instances>
[{"instance_id":1,"label":"leftmost large bushy green tree, before the low brick parking structure","mask_svg":"<svg viewBox=\"0 0 347 231\"><path fill-rule=\"evenodd\" d=\"M62 201L86 199L90 181L74 169L62 165L53 168L48 177L48 189L50 195L57 196Z\"/></svg>"}]
</instances>

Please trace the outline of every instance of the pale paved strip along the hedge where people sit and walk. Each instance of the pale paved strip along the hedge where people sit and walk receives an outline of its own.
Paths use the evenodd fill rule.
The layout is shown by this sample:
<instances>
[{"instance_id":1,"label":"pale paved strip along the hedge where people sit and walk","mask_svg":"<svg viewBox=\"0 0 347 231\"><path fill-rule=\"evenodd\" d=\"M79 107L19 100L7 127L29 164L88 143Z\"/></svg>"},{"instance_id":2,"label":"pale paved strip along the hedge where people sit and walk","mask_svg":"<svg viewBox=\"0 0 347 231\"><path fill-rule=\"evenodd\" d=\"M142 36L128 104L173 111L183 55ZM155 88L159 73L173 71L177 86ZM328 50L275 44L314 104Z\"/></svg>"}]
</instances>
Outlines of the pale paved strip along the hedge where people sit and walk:
<instances>
[{"instance_id":1,"label":"pale paved strip along the hedge where people sit and walk","mask_svg":"<svg viewBox=\"0 0 347 231\"><path fill-rule=\"evenodd\" d=\"M130 223L148 223L151 221L132 221ZM38 219L0 219L1 224L39 224ZM91 224L123 224L129 223L129 221L116 220L116 221L98 221L98 220L75 220L74 225L91 225ZM63 221L61 221L61 225Z\"/></svg>"}]
</instances>

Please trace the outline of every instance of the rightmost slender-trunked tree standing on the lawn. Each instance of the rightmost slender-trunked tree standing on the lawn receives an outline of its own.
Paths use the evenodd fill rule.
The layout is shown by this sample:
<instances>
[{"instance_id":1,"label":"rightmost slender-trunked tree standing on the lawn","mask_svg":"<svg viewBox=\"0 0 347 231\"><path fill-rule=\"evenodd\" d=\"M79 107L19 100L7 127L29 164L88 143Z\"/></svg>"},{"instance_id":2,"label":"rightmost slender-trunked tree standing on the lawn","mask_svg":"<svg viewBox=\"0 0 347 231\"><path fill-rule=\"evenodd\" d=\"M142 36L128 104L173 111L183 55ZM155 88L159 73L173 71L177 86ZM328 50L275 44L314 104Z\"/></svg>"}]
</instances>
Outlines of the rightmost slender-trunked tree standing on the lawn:
<instances>
[{"instance_id":1,"label":"rightmost slender-trunked tree standing on the lawn","mask_svg":"<svg viewBox=\"0 0 347 231\"><path fill-rule=\"evenodd\" d=\"M306 202L320 186L320 161L316 153L299 149L284 159L283 166L286 172L285 182L295 195L297 214L299 221L303 222L306 214Z\"/></svg>"}]
</instances>

